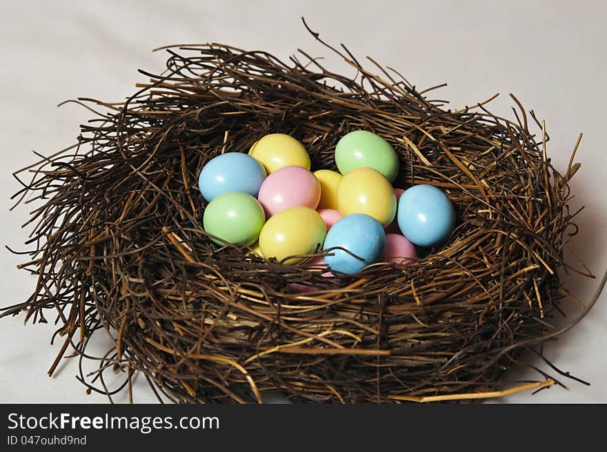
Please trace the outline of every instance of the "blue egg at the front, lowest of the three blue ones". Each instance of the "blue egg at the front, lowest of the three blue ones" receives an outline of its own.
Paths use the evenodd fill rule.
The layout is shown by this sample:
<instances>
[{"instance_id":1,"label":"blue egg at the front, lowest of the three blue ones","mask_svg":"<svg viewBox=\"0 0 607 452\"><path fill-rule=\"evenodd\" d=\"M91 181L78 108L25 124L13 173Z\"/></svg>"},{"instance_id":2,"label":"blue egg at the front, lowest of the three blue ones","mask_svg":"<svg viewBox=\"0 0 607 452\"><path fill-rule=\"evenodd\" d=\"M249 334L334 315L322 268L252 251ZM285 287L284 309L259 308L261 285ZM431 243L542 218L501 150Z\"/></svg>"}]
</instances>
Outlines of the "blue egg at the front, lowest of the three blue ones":
<instances>
[{"instance_id":1,"label":"blue egg at the front, lowest of the three blue ones","mask_svg":"<svg viewBox=\"0 0 607 452\"><path fill-rule=\"evenodd\" d=\"M377 219L364 213L352 213L337 221L327 233L324 249L341 246L364 259L357 259L344 250L330 250L332 256L325 256L325 264L331 271L357 273L364 267L377 262L384 253L386 233Z\"/></svg>"}]
</instances>

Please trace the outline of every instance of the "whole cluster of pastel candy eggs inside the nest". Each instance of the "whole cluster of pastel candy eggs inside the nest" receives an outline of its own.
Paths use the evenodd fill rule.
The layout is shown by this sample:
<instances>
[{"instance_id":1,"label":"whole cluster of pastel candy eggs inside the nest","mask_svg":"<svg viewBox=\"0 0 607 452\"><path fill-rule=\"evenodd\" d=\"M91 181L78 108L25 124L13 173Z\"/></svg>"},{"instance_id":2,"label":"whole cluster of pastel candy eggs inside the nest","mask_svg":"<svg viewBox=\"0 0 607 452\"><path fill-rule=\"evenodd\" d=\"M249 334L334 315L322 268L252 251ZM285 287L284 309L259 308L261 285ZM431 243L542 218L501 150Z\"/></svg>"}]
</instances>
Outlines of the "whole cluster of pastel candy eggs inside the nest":
<instances>
[{"instance_id":1,"label":"whole cluster of pastel candy eggs inside the nest","mask_svg":"<svg viewBox=\"0 0 607 452\"><path fill-rule=\"evenodd\" d=\"M441 190L392 187L399 160L379 135L344 135L335 163L339 173L312 173L304 145L279 133L259 139L248 155L211 159L199 177L206 233L284 264L322 252L331 272L352 274L375 262L406 264L416 245L436 246L452 232L455 210Z\"/></svg>"}]
</instances>

